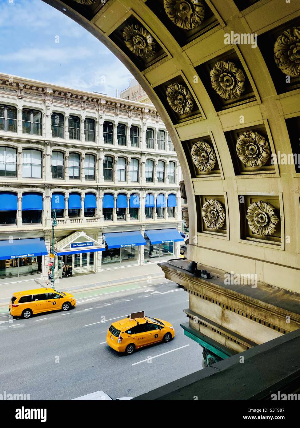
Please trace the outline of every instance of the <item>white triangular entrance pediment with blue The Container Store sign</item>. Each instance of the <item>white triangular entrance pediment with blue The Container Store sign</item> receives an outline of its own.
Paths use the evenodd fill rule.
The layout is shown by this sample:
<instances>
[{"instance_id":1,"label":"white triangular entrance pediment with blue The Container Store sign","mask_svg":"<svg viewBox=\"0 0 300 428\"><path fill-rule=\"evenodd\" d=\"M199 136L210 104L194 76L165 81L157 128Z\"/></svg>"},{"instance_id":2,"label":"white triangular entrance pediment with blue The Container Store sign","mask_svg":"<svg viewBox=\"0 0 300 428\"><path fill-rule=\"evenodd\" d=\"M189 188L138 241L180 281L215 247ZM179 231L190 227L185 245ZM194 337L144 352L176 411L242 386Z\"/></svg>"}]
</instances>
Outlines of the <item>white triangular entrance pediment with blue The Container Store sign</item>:
<instances>
[{"instance_id":1,"label":"white triangular entrance pediment with blue The Container Store sign","mask_svg":"<svg viewBox=\"0 0 300 428\"><path fill-rule=\"evenodd\" d=\"M95 241L85 232L74 232L66 238L61 239L54 245L54 254L63 256L65 254L95 253L103 251L105 247L102 243Z\"/></svg>"}]
</instances>

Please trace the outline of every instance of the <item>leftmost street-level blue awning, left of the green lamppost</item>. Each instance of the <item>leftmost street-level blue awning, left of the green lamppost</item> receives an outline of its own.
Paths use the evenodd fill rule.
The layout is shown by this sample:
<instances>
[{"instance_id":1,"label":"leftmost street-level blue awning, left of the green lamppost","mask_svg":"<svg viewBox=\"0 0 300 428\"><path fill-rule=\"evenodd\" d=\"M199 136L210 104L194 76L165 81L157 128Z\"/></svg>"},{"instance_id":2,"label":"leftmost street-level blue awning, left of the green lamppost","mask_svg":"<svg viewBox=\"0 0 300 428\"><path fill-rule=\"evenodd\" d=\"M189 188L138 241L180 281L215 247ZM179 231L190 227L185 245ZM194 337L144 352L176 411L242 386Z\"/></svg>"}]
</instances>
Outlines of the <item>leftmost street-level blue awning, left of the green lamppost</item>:
<instances>
[{"instance_id":1,"label":"leftmost street-level blue awning, left of the green lamppost","mask_svg":"<svg viewBox=\"0 0 300 428\"><path fill-rule=\"evenodd\" d=\"M48 251L43 238L0 241L0 260L45 256L46 254Z\"/></svg>"}]
</instances>

